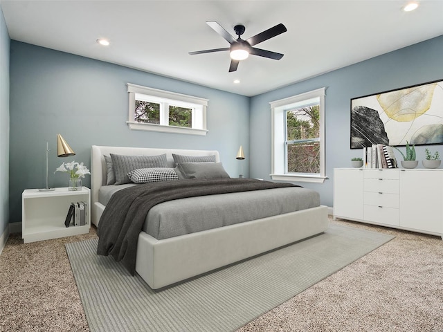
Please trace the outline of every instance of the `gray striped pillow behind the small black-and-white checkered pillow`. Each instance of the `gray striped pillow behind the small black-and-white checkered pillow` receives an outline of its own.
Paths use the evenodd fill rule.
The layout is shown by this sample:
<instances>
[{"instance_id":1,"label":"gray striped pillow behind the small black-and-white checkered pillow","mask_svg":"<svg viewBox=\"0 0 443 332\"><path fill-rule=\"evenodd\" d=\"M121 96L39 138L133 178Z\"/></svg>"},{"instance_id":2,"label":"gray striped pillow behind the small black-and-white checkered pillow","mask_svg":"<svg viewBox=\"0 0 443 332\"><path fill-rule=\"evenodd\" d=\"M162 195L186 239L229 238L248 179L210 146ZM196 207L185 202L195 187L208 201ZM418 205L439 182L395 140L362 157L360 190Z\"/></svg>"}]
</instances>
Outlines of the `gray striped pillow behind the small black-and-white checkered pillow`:
<instances>
[{"instance_id":1,"label":"gray striped pillow behind the small black-and-white checkered pillow","mask_svg":"<svg viewBox=\"0 0 443 332\"><path fill-rule=\"evenodd\" d=\"M123 156L111 154L116 185L130 183L127 174L138 168L166 167L166 154L159 156Z\"/></svg>"}]
</instances>

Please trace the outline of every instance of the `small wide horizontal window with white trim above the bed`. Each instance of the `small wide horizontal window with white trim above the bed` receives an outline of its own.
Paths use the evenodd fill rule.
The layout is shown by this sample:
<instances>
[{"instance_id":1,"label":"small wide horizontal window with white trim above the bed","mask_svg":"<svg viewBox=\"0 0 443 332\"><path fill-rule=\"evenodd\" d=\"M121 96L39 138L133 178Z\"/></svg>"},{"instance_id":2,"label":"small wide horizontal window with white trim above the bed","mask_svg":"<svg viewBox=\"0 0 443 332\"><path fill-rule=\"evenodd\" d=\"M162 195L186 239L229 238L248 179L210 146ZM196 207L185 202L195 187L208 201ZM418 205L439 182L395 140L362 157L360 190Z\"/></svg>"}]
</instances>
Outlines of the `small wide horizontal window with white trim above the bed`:
<instances>
[{"instance_id":1,"label":"small wide horizontal window with white trim above the bed","mask_svg":"<svg viewBox=\"0 0 443 332\"><path fill-rule=\"evenodd\" d=\"M127 84L129 128L206 135L208 100Z\"/></svg>"}]
</instances>

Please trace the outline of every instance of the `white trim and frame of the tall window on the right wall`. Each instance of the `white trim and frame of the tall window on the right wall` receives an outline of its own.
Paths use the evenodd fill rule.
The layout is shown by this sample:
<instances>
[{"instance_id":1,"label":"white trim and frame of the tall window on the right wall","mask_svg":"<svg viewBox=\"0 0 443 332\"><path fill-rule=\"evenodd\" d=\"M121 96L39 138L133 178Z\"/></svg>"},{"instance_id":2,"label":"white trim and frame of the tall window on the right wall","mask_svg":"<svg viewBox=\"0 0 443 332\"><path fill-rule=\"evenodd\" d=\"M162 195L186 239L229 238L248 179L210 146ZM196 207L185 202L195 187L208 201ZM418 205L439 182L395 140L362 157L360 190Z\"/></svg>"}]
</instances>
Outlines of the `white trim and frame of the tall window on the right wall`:
<instances>
[{"instance_id":1,"label":"white trim and frame of the tall window on the right wall","mask_svg":"<svg viewBox=\"0 0 443 332\"><path fill-rule=\"evenodd\" d=\"M327 176L325 175L325 95L326 88L316 89L300 95L294 95L289 98L275 100L271 105L271 178L276 181L296 181L323 183ZM297 103L309 100L311 98L320 98L320 173L285 173L285 152L284 152L284 112L296 106Z\"/></svg>"}]
</instances>

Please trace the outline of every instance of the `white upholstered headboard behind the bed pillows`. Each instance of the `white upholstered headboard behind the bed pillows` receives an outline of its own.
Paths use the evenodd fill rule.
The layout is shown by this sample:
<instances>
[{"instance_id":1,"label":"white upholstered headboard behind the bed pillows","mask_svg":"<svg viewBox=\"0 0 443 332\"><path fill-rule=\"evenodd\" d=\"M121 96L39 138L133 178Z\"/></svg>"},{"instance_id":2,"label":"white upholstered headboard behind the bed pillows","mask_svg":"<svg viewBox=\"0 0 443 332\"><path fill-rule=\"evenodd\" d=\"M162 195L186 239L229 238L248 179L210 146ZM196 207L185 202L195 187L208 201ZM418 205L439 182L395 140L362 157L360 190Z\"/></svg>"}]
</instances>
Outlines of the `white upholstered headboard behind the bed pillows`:
<instances>
[{"instance_id":1,"label":"white upholstered headboard behind the bed pillows","mask_svg":"<svg viewBox=\"0 0 443 332\"><path fill-rule=\"evenodd\" d=\"M215 155L215 161L220 161L219 152L215 150L186 150L186 149L156 149L152 147L102 147L92 145L91 147L91 214L92 219L96 220L96 209L93 206L98 203L98 190L102 185L106 185L107 167L105 155L121 154L124 156L158 156L166 154L168 167L174 167L172 154L181 154L185 156L212 156Z\"/></svg>"}]
</instances>

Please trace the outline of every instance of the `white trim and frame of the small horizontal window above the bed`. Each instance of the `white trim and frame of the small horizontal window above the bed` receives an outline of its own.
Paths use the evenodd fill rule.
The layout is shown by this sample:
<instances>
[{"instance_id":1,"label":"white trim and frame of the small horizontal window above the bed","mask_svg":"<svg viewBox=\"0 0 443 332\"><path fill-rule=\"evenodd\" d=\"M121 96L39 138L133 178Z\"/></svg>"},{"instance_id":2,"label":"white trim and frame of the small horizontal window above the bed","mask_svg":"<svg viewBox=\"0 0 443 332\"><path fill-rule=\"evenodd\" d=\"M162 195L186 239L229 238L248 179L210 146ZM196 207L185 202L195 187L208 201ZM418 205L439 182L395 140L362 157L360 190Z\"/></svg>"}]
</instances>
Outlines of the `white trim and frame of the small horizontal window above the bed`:
<instances>
[{"instance_id":1,"label":"white trim and frame of the small horizontal window above the bed","mask_svg":"<svg viewBox=\"0 0 443 332\"><path fill-rule=\"evenodd\" d=\"M131 83L127 83L127 92L129 93L129 120L126 123L129 129L161 131L165 133L186 133L202 136L208 133L208 129L206 129L206 109L208 107L207 99L194 97L192 95L183 95L181 93L148 88L147 86L141 86ZM199 105L199 107L201 108L199 109L199 111L192 111L192 128L170 126L168 124L165 124L165 121L161 121L161 124L136 122L134 120L136 93L153 96L154 98L159 98L159 100L168 100L171 104L174 104L174 106L187 107L187 104L194 104Z\"/></svg>"}]
</instances>

